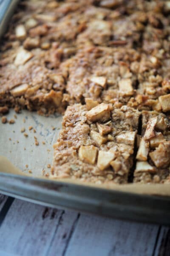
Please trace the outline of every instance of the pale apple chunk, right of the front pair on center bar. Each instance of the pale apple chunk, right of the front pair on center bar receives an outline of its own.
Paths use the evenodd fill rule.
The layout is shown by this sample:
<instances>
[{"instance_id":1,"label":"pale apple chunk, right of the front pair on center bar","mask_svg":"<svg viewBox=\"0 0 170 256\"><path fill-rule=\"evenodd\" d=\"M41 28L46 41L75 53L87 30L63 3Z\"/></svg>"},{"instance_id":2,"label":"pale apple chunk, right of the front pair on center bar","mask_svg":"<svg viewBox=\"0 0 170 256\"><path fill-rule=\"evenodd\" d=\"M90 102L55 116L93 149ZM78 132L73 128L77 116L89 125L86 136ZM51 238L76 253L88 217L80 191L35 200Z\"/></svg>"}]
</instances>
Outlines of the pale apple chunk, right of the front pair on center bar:
<instances>
[{"instance_id":1,"label":"pale apple chunk, right of the front pair on center bar","mask_svg":"<svg viewBox=\"0 0 170 256\"><path fill-rule=\"evenodd\" d=\"M98 159L97 159L97 167L100 170L104 170L108 168L110 162L115 158L115 155L109 151L99 151Z\"/></svg>"}]
</instances>

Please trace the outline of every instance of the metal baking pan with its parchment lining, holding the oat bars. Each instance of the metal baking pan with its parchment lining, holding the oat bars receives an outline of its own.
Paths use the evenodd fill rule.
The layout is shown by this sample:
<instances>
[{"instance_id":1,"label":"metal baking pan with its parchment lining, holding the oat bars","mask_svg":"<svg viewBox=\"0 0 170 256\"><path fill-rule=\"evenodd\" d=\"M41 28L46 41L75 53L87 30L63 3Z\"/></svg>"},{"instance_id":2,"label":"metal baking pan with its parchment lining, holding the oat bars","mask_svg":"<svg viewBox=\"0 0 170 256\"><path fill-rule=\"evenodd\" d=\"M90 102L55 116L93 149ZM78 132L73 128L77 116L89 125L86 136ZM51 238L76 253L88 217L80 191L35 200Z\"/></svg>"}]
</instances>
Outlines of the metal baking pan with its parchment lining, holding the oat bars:
<instances>
[{"instance_id":1,"label":"metal baking pan with its parchment lining, holding the oat bars","mask_svg":"<svg viewBox=\"0 0 170 256\"><path fill-rule=\"evenodd\" d=\"M17 2L0 1L1 35L2 31L6 30ZM8 118L13 116L14 111L11 110ZM20 133L23 118L26 119L24 126L27 129L29 125L36 128L38 140L46 142L44 146L33 146L34 134L29 134L29 139L26 140ZM6 156L14 166L23 170L20 172L6 158L0 157L1 193L53 207L135 221L170 224L169 185L97 186L77 181L73 183L70 180L42 178L40 167L44 166L45 169L47 163L51 163L52 144L58 136L61 119L57 114L46 118L34 112L22 111L13 126L0 123L0 155ZM51 129L54 125L55 131ZM26 163L29 164L34 177L29 175L28 169L24 169Z\"/></svg>"}]
</instances>

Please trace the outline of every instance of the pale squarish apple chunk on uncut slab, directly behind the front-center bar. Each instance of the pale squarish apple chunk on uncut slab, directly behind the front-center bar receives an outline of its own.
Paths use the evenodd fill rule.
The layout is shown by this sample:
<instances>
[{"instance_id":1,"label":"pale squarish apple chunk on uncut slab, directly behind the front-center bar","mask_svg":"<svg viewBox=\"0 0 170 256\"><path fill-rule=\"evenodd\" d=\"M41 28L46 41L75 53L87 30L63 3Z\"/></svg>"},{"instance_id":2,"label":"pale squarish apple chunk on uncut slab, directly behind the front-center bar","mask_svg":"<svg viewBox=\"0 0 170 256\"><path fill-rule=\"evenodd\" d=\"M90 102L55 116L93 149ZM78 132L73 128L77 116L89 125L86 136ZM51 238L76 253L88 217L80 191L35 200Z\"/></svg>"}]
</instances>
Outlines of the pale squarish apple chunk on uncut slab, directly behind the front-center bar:
<instances>
[{"instance_id":1,"label":"pale squarish apple chunk on uncut slab, directly behind the front-center bar","mask_svg":"<svg viewBox=\"0 0 170 256\"><path fill-rule=\"evenodd\" d=\"M129 78L121 79L119 81L119 92L123 96L131 96L133 95L133 87L132 87L132 81Z\"/></svg>"}]
</instances>

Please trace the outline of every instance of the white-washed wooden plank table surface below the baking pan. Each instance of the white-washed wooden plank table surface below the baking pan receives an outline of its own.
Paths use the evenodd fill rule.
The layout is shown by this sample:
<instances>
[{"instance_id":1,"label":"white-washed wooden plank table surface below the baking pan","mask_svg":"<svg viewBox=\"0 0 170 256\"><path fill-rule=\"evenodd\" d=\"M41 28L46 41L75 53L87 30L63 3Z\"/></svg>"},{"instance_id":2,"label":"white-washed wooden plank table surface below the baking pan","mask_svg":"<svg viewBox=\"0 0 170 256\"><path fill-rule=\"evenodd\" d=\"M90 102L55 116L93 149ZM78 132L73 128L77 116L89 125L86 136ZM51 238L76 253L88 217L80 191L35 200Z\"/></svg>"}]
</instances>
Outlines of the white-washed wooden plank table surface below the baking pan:
<instances>
[{"instance_id":1,"label":"white-washed wooden plank table surface below the baking pan","mask_svg":"<svg viewBox=\"0 0 170 256\"><path fill-rule=\"evenodd\" d=\"M0 256L169 256L170 228L0 195Z\"/></svg>"}]
</instances>

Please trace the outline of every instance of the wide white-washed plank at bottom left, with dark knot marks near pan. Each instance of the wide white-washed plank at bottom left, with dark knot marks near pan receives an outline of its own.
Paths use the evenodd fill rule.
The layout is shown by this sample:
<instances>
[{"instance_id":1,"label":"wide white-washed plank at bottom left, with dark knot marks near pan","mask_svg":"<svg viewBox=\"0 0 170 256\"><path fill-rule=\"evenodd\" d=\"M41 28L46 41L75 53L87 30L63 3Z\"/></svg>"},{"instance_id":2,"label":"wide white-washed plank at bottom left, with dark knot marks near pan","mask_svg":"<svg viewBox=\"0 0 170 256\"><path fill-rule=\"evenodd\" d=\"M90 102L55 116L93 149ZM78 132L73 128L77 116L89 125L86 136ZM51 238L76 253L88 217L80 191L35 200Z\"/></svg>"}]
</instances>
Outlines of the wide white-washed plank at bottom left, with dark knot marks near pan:
<instances>
[{"instance_id":1,"label":"wide white-washed plank at bottom left, with dark knot marks near pan","mask_svg":"<svg viewBox=\"0 0 170 256\"><path fill-rule=\"evenodd\" d=\"M15 200L0 227L0 251L45 256L62 210Z\"/></svg>"}]
</instances>

